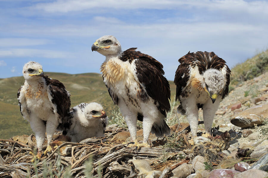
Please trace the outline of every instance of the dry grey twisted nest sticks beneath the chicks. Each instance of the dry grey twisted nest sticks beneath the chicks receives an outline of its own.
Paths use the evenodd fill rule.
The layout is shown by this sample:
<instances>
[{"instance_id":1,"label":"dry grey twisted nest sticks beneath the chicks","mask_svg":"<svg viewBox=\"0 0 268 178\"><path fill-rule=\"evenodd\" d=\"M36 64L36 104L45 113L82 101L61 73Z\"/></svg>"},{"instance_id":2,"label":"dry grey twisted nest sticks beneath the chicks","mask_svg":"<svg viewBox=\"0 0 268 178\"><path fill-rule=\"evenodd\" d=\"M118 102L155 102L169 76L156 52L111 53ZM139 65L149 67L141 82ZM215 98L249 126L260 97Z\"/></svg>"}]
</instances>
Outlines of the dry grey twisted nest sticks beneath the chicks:
<instances>
[{"instance_id":1,"label":"dry grey twisted nest sticks beneath the chicks","mask_svg":"<svg viewBox=\"0 0 268 178\"><path fill-rule=\"evenodd\" d=\"M58 171L56 163L60 158L60 163L63 167L61 175L67 166L71 166L72 177L85 177L85 161L93 156L91 173L93 177L97 177L97 170L102 170L102 177L140 177L130 159L146 159L153 170L163 171L161 177L166 177L172 169L183 163L188 163L189 160L176 160L177 152L183 148L141 148L135 152L134 147L128 147L127 144L116 144L109 142L113 135L122 131L121 128L111 128L105 134L107 142L103 143L104 138L94 139L94 142L89 143L73 143L64 142L60 144L47 157L34 164L30 163L33 156L30 152L34 151L35 145L29 143L21 143L12 139L0 139L0 177L34 177L35 168L38 172L38 177L43 177L43 166L51 163L54 171ZM99 139L99 142L96 140ZM161 140L163 142L163 140ZM71 147L71 155L62 156L59 150L64 147ZM46 147L44 146L44 149ZM172 158L172 159L171 159ZM163 161L165 160L165 161Z\"/></svg>"}]
</instances>

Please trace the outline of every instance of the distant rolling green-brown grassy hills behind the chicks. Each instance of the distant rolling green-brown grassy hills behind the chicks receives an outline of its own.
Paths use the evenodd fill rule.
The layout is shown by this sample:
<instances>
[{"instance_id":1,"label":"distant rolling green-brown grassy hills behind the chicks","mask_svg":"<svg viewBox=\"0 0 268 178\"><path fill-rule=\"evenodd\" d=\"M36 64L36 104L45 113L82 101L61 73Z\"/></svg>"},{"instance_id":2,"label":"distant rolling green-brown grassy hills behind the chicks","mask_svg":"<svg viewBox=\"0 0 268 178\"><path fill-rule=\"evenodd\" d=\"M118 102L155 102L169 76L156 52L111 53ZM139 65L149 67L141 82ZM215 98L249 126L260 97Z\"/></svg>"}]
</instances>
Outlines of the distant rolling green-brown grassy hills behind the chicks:
<instances>
[{"instance_id":1,"label":"distant rolling green-brown grassy hills behind the chicks","mask_svg":"<svg viewBox=\"0 0 268 178\"><path fill-rule=\"evenodd\" d=\"M112 110L118 109L113 104L100 74L72 75L52 72L45 72L45 74L52 79L60 80L70 91L72 107L82 102L98 102L102 104L110 118L112 117L110 114ZM23 82L23 77L0 79L0 138L32 133L29 123L20 114L17 101L18 88L23 85ZM169 83L173 101L176 86L172 81L169 81Z\"/></svg>"}]
</instances>

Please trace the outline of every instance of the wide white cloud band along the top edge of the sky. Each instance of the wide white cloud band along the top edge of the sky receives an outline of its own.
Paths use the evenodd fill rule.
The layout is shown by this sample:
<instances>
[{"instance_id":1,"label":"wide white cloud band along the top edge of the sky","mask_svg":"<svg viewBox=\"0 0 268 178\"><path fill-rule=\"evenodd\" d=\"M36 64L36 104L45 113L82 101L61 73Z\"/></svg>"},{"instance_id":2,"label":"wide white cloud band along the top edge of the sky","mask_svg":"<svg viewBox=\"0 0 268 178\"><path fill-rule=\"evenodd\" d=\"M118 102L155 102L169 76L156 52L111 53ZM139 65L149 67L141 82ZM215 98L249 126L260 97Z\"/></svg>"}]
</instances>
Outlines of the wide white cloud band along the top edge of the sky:
<instances>
[{"instance_id":1,"label":"wide white cloud band along the top edge of the sky","mask_svg":"<svg viewBox=\"0 0 268 178\"><path fill-rule=\"evenodd\" d=\"M48 3L38 3L32 9L43 10L49 13L83 11L96 8L113 9L180 9L200 8L210 10L235 10L247 13L268 14L268 3L266 1L244 1L244 0L57 0Z\"/></svg>"}]
</instances>

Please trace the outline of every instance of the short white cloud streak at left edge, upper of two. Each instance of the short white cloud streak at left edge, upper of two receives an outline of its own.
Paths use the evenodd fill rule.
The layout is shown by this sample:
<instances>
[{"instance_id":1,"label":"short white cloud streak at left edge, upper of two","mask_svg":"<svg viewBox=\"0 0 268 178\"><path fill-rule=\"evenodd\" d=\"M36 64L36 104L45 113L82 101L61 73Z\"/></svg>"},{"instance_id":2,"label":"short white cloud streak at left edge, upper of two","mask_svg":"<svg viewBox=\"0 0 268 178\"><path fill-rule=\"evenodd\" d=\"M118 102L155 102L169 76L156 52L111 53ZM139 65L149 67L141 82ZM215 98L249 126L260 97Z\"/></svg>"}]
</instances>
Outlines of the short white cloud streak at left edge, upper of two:
<instances>
[{"instance_id":1,"label":"short white cloud streak at left edge, upper of two","mask_svg":"<svg viewBox=\"0 0 268 178\"><path fill-rule=\"evenodd\" d=\"M49 43L47 39L0 38L0 47L35 46Z\"/></svg>"}]
</instances>

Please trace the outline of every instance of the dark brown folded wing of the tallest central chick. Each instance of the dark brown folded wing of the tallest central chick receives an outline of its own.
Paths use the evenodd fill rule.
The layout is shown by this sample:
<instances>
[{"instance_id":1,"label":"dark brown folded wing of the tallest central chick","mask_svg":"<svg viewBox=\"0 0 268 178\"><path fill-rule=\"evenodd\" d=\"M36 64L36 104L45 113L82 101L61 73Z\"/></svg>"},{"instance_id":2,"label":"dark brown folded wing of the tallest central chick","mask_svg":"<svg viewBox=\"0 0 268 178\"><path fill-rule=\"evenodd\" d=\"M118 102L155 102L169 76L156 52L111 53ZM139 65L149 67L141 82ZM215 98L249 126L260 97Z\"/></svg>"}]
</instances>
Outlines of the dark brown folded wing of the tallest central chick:
<instances>
[{"instance_id":1,"label":"dark brown folded wing of the tallest central chick","mask_svg":"<svg viewBox=\"0 0 268 178\"><path fill-rule=\"evenodd\" d=\"M166 116L170 111L170 88L168 80L163 76L163 65L152 56L135 51L136 49L124 51L119 58L130 63L137 59L135 66L139 82L145 87L147 95L159 103L158 110Z\"/></svg>"}]
</instances>

